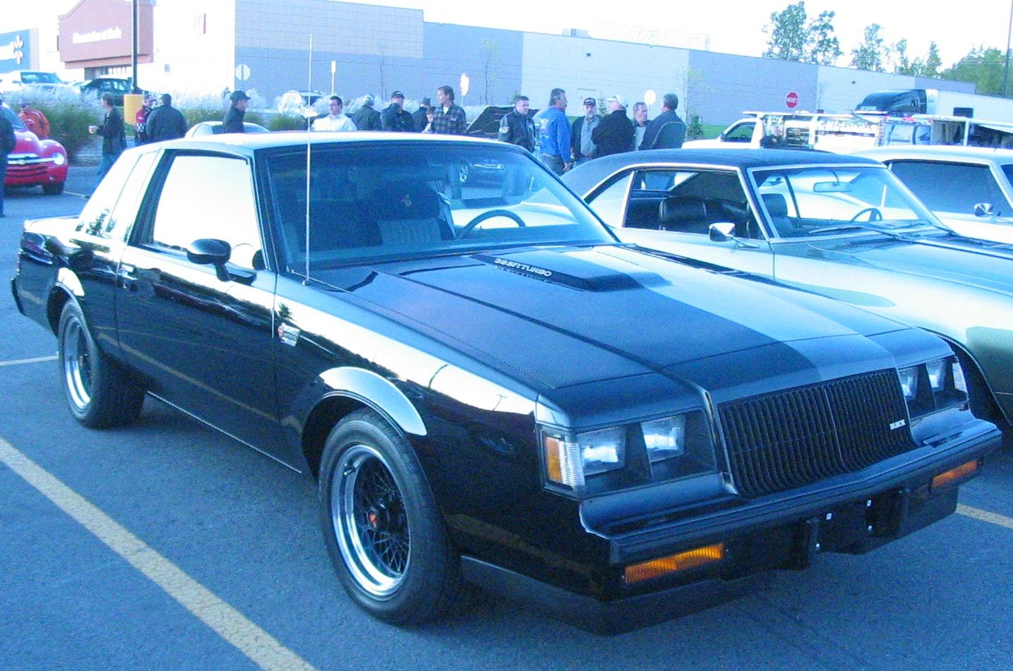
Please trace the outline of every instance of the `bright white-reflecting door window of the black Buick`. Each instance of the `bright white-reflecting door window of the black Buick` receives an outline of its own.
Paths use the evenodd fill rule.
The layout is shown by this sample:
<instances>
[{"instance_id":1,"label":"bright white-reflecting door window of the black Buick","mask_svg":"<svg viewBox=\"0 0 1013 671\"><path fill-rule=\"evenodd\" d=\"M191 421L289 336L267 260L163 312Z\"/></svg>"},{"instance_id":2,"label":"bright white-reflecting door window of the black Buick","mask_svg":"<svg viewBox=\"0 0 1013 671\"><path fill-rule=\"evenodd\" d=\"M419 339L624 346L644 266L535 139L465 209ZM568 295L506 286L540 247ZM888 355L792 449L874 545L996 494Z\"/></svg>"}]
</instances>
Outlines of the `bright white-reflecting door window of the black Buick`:
<instances>
[{"instance_id":1,"label":"bright white-reflecting door window of the black Buick","mask_svg":"<svg viewBox=\"0 0 1013 671\"><path fill-rule=\"evenodd\" d=\"M151 242L181 251L194 240L217 238L232 246L231 263L262 267L256 200L246 161L191 155L171 161L158 195Z\"/></svg>"}]
</instances>

